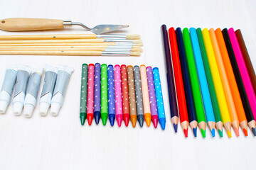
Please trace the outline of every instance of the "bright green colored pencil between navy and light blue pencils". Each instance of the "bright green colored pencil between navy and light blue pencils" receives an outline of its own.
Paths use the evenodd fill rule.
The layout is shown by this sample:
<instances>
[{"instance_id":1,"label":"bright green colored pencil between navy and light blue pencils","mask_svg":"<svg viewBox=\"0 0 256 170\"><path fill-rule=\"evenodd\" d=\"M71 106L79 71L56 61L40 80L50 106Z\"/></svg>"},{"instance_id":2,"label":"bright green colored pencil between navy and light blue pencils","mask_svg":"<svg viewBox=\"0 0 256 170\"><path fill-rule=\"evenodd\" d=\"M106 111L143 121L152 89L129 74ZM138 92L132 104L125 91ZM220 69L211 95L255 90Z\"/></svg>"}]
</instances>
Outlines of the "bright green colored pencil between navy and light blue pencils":
<instances>
[{"instance_id":1,"label":"bright green colored pencil between navy and light blue pencils","mask_svg":"<svg viewBox=\"0 0 256 170\"><path fill-rule=\"evenodd\" d=\"M198 74L196 72L196 63L193 57L193 49L191 45L191 38L189 36L188 28L183 29L183 40L186 51L186 60L188 63L188 72L191 77L191 86L196 106L196 117L198 120L198 127L201 129L203 137L206 137L206 116L203 110L203 101L201 98Z\"/></svg>"}]
</instances>

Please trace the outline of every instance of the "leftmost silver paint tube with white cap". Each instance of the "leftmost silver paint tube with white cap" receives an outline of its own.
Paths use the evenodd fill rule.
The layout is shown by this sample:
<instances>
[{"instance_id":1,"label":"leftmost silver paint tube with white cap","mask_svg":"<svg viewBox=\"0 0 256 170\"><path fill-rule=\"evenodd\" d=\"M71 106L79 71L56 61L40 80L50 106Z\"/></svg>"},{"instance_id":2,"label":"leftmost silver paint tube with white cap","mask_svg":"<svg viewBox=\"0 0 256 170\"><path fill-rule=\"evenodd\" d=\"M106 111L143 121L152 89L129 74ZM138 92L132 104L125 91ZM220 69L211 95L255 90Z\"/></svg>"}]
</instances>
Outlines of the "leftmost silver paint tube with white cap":
<instances>
[{"instance_id":1,"label":"leftmost silver paint tube with white cap","mask_svg":"<svg viewBox=\"0 0 256 170\"><path fill-rule=\"evenodd\" d=\"M4 82L0 92L0 114L6 112L6 108L11 101L11 94L14 91L14 84L17 79L17 66L6 67Z\"/></svg>"}]
</instances>

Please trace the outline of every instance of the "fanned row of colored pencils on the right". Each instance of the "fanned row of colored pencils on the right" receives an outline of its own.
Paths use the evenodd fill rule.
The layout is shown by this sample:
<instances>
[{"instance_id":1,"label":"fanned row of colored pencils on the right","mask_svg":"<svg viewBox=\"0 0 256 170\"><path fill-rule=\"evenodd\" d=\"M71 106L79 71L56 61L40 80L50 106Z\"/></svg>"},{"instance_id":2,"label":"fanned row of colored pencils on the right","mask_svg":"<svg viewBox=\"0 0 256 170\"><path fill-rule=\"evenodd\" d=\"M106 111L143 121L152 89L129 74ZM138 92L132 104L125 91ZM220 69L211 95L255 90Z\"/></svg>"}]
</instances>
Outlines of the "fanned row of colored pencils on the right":
<instances>
[{"instance_id":1,"label":"fanned row of colored pencils on the right","mask_svg":"<svg viewBox=\"0 0 256 170\"><path fill-rule=\"evenodd\" d=\"M186 137L188 125L195 136L198 126L206 137L206 125L213 137L223 126L239 136L239 125L256 135L256 78L240 30L161 28L174 126L179 113Z\"/></svg>"}]
</instances>

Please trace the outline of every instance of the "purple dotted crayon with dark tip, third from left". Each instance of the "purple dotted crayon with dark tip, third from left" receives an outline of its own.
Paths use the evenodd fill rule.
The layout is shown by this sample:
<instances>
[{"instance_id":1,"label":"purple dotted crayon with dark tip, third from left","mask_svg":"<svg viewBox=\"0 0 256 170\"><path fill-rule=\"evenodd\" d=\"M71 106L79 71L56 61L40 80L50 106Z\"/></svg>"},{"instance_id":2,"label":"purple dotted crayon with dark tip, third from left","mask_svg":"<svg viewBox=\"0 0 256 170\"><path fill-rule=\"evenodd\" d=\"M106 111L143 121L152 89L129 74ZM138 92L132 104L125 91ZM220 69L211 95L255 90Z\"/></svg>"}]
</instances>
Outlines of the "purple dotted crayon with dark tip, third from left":
<instances>
[{"instance_id":1,"label":"purple dotted crayon with dark tip, third from left","mask_svg":"<svg viewBox=\"0 0 256 170\"><path fill-rule=\"evenodd\" d=\"M95 64L95 81L94 81L94 108L93 115L95 118L95 123L100 122L100 63Z\"/></svg>"}]
</instances>

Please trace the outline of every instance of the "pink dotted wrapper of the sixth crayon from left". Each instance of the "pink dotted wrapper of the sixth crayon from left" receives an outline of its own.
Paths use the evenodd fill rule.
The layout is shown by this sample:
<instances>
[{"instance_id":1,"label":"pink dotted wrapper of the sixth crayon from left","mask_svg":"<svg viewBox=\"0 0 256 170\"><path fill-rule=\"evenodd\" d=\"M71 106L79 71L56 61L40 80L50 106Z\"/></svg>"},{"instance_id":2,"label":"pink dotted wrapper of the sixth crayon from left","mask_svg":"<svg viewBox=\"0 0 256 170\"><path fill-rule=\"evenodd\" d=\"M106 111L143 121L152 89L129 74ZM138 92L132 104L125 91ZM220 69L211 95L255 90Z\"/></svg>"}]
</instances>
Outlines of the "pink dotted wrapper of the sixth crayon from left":
<instances>
[{"instance_id":1,"label":"pink dotted wrapper of the sixth crayon from left","mask_svg":"<svg viewBox=\"0 0 256 170\"><path fill-rule=\"evenodd\" d=\"M116 115L122 115L122 86L121 86L121 68L119 65L114 66L114 90Z\"/></svg>"}]
</instances>

